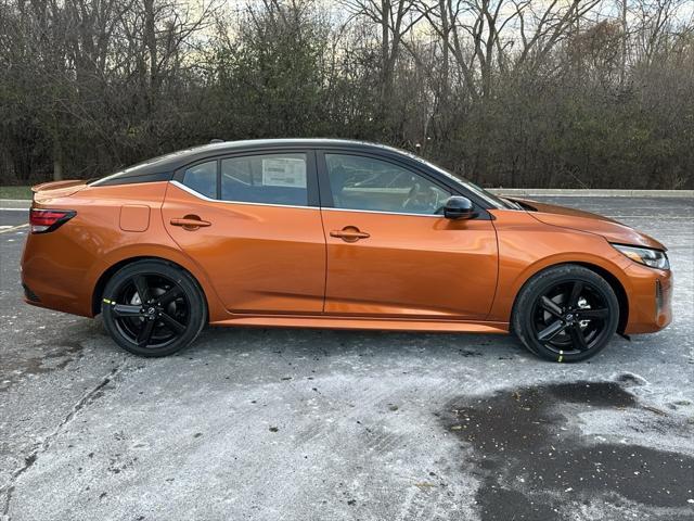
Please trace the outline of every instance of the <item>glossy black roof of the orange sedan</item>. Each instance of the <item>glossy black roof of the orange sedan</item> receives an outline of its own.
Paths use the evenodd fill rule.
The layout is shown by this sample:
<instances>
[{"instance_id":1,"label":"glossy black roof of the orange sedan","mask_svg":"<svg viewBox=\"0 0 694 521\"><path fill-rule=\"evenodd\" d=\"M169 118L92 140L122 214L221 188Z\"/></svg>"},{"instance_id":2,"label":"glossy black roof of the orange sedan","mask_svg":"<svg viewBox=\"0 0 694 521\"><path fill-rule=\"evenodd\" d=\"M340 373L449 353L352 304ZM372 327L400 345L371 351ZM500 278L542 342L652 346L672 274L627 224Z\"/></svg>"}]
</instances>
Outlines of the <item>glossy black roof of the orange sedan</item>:
<instances>
[{"instance_id":1,"label":"glossy black roof of the orange sedan","mask_svg":"<svg viewBox=\"0 0 694 521\"><path fill-rule=\"evenodd\" d=\"M153 157L136 165L129 166L111 176L104 177L92 182L93 186L117 185L119 182L133 182L138 180L165 180L168 176L182 166L194 163L206 157L224 155L228 153L236 153L250 150L264 149L283 149L283 148L340 148L365 151L387 152L390 154L406 155L415 157L410 152L399 150L385 144L372 143L369 141L359 141L350 139L327 139L327 138L298 138L298 139L248 139L241 141L221 141L203 144L200 147L191 147L178 150L169 154Z\"/></svg>"}]
</instances>

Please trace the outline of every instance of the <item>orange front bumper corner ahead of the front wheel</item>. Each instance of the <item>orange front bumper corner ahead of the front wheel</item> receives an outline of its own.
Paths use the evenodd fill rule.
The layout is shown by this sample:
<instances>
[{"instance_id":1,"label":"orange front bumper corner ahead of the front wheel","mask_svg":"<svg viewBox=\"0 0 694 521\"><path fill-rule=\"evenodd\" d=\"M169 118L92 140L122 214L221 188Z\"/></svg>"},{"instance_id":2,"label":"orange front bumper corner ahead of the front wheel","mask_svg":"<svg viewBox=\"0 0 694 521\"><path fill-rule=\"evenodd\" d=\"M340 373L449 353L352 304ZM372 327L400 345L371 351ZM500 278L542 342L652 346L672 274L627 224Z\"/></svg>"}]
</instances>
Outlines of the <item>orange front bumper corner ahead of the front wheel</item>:
<instances>
[{"instance_id":1,"label":"orange front bumper corner ahead of the front wheel","mask_svg":"<svg viewBox=\"0 0 694 521\"><path fill-rule=\"evenodd\" d=\"M672 271L633 264L625 270L630 287L625 333L653 333L672 321Z\"/></svg>"}]
</instances>

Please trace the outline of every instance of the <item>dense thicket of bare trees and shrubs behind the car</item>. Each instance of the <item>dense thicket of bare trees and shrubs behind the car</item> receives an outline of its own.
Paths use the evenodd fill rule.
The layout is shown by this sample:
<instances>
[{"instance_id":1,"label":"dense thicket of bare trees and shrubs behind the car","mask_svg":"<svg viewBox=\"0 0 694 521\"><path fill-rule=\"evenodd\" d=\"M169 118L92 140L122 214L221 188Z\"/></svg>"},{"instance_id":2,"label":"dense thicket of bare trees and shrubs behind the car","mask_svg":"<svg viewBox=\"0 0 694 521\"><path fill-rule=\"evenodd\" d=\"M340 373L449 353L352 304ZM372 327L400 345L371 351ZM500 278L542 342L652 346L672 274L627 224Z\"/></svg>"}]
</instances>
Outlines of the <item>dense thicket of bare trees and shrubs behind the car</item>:
<instances>
[{"instance_id":1,"label":"dense thicket of bare trees and shrubs behind the car","mask_svg":"<svg viewBox=\"0 0 694 521\"><path fill-rule=\"evenodd\" d=\"M339 136L485 185L692 187L690 4L0 0L0 182Z\"/></svg>"}]
</instances>

